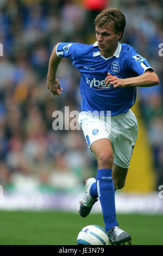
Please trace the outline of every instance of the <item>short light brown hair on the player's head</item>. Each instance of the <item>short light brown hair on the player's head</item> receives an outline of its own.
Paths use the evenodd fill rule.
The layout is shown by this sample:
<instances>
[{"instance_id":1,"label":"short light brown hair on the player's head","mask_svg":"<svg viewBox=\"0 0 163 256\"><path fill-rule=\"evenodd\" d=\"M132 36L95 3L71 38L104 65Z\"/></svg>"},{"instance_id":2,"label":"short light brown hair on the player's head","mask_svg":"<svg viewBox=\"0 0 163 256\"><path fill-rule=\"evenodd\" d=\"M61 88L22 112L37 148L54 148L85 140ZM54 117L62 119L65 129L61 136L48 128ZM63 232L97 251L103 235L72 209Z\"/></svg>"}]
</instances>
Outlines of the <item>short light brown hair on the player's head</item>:
<instances>
[{"instance_id":1,"label":"short light brown hair on the player's head","mask_svg":"<svg viewBox=\"0 0 163 256\"><path fill-rule=\"evenodd\" d=\"M126 18L117 8L107 8L97 15L94 24L97 27L105 28L112 26L116 34L122 32L123 35L126 26ZM122 36L120 39L122 39Z\"/></svg>"}]
</instances>

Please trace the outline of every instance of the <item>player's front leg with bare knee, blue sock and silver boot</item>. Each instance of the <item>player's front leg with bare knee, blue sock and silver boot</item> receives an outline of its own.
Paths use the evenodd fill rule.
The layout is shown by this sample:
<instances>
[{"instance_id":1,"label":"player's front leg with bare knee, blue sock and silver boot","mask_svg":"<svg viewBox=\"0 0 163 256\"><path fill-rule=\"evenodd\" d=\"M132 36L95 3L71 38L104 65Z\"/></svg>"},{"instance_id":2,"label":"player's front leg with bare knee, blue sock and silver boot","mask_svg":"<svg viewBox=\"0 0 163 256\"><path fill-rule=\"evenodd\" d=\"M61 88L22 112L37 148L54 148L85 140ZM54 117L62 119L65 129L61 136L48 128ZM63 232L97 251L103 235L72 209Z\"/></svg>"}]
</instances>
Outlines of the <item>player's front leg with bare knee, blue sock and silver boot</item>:
<instances>
[{"instance_id":1,"label":"player's front leg with bare knee, blue sock and silver boot","mask_svg":"<svg viewBox=\"0 0 163 256\"><path fill-rule=\"evenodd\" d=\"M115 209L115 188L112 181L113 151L109 139L101 139L93 142L91 151L95 154L98 162L97 170L97 192L101 202L105 230L112 244L120 245L131 240L130 235L118 227ZM117 178L117 187L122 186L127 171L118 168L114 164L114 177ZM123 171L123 174L122 172ZM120 175L118 179L117 175ZM122 174L122 175L121 175Z\"/></svg>"}]
</instances>

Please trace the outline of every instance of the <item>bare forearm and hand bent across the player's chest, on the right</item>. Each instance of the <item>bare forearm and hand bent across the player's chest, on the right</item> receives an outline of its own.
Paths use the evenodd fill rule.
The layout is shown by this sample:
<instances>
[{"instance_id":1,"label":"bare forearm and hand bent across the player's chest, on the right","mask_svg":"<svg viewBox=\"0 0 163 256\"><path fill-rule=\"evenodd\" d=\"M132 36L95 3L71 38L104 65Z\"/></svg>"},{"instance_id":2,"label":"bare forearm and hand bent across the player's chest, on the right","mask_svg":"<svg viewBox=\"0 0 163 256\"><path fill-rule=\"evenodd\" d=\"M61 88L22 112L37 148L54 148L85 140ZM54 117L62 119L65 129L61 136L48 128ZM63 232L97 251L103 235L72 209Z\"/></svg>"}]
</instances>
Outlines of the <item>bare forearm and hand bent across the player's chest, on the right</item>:
<instances>
[{"instance_id":1,"label":"bare forearm and hand bent across the player's chest, on the right","mask_svg":"<svg viewBox=\"0 0 163 256\"><path fill-rule=\"evenodd\" d=\"M114 88L127 86L148 87L159 85L160 81L158 75L156 75L153 69L147 69L142 75L124 79L117 78L117 76L113 76L108 73L108 76L105 78L105 84L109 84L109 86L113 86Z\"/></svg>"}]
</instances>

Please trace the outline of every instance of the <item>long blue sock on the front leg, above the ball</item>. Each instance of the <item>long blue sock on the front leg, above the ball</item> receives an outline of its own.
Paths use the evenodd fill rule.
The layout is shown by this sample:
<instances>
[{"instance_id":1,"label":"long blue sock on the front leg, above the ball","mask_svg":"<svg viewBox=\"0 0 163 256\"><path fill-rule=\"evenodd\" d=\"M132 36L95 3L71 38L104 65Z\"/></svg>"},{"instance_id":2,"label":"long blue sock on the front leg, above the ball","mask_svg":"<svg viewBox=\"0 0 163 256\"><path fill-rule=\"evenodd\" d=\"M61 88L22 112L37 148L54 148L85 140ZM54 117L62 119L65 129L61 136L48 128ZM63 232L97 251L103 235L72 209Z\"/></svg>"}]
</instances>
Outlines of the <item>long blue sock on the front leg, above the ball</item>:
<instances>
[{"instance_id":1,"label":"long blue sock on the front leg, above the ball","mask_svg":"<svg viewBox=\"0 0 163 256\"><path fill-rule=\"evenodd\" d=\"M115 209L115 191L112 182L111 169L99 169L97 171L97 192L102 206L105 230L118 226Z\"/></svg>"}]
</instances>

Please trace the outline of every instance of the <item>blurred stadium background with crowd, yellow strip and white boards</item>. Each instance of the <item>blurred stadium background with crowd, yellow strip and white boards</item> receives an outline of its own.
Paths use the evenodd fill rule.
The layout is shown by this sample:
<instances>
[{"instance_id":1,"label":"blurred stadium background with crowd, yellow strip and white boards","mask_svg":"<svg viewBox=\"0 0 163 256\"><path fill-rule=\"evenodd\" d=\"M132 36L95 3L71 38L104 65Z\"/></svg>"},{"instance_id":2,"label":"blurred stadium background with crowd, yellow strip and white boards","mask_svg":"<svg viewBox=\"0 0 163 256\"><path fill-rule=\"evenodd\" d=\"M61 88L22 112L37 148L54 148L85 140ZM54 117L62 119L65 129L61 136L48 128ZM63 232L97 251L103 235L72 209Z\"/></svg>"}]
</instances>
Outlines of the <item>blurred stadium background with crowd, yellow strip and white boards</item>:
<instances>
[{"instance_id":1,"label":"blurred stadium background with crowd, yellow strip and white boards","mask_svg":"<svg viewBox=\"0 0 163 256\"><path fill-rule=\"evenodd\" d=\"M108 6L126 16L122 42L146 57L160 78L158 86L137 88L139 136L126 187L116 192L117 212L163 212L161 0L1 0L0 209L78 211L84 180L96 177L97 164L82 131L54 131L52 114L65 106L80 110L80 75L62 59L57 77L64 93L54 97L46 87L48 61L60 41L95 42L93 19ZM99 204L93 211L101 212Z\"/></svg>"}]
</instances>

